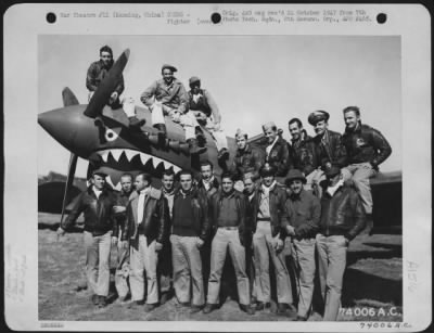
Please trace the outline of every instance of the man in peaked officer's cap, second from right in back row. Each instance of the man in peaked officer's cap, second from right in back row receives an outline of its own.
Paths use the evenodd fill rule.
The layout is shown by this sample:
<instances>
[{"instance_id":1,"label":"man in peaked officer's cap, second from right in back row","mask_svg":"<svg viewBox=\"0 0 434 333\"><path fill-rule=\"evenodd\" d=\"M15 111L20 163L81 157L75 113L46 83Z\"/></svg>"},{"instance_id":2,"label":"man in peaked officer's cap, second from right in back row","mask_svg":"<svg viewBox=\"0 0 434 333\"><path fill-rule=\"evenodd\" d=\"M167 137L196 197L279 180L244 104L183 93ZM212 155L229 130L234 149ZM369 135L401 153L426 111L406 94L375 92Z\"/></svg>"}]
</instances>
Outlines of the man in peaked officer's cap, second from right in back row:
<instances>
[{"instance_id":1,"label":"man in peaked officer's cap, second from right in back row","mask_svg":"<svg viewBox=\"0 0 434 333\"><path fill-rule=\"evenodd\" d=\"M329 130L328 112L319 110L312 112L307 120L314 127L317 136L314 138L317 156L322 169L332 165L343 167L346 165L346 151L340 133Z\"/></svg>"}]
</instances>

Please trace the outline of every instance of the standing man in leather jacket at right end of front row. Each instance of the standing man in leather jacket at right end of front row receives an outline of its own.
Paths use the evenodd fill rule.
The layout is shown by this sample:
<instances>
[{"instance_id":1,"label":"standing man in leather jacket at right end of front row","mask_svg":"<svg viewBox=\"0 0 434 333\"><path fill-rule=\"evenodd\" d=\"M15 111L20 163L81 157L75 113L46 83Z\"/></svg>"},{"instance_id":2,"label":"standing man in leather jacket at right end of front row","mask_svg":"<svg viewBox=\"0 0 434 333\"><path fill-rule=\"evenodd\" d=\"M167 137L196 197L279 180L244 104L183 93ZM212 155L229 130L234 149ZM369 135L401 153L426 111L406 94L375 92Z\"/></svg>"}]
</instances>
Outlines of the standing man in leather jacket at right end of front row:
<instances>
[{"instance_id":1,"label":"standing man in leather jacket at right end of front row","mask_svg":"<svg viewBox=\"0 0 434 333\"><path fill-rule=\"evenodd\" d=\"M348 243L366 225L360 197L344 183L336 166L326 170L327 188L321 197L321 218L316 244L324 321L335 321L341 306L343 277Z\"/></svg>"}]
</instances>

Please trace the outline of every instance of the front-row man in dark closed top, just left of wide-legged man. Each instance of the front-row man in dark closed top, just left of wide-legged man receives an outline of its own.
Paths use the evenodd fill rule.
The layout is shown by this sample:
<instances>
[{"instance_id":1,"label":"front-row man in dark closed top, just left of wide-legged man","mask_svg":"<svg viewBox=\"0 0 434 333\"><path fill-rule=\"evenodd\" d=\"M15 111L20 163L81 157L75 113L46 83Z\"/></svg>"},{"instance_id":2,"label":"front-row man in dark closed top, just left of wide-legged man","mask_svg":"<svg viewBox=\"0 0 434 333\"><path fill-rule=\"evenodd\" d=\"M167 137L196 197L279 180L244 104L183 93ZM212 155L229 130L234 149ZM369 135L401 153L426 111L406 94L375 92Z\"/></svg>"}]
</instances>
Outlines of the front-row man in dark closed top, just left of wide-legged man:
<instances>
[{"instance_id":1,"label":"front-row man in dark closed top, just left of wide-legged man","mask_svg":"<svg viewBox=\"0 0 434 333\"><path fill-rule=\"evenodd\" d=\"M191 305L191 313L205 304L201 247L209 232L208 203L193 189L193 176L180 172L180 189L176 192L170 235L174 265L174 287L180 305Z\"/></svg>"}]
</instances>

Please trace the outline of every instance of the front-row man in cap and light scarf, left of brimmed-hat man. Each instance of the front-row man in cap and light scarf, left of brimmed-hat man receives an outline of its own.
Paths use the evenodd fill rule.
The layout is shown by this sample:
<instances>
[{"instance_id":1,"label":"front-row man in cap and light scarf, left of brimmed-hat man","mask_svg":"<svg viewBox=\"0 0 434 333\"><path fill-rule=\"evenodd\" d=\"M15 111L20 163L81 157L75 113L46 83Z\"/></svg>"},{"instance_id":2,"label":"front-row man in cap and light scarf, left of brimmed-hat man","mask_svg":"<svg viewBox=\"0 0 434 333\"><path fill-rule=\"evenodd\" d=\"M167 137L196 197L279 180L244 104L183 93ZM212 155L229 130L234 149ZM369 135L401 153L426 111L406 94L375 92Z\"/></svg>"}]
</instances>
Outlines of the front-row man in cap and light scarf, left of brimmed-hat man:
<instances>
[{"instance_id":1,"label":"front-row man in cap and light scarf, left of brimmed-hat man","mask_svg":"<svg viewBox=\"0 0 434 333\"><path fill-rule=\"evenodd\" d=\"M261 185L252 200L252 232L255 257L255 279L257 293L256 310L263 310L271 300L269 274L270 258L277 279L278 311L293 309L290 276L282 253L286 236L288 214L286 193L275 179L275 168L266 163L259 170Z\"/></svg>"}]
</instances>

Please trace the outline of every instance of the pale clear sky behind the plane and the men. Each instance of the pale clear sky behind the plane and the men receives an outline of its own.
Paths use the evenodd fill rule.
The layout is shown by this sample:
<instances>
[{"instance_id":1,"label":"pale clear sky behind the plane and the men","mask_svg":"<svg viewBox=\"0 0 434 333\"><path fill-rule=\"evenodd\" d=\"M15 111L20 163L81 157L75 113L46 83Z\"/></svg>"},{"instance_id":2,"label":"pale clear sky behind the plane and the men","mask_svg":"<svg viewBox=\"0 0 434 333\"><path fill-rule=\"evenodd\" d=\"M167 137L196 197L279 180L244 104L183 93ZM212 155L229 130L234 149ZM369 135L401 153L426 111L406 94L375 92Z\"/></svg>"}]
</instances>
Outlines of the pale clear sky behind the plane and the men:
<instances>
[{"instance_id":1,"label":"pale clear sky behind the plane and the men","mask_svg":"<svg viewBox=\"0 0 434 333\"><path fill-rule=\"evenodd\" d=\"M141 105L140 94L169 63L186 88L191 76L216 100L221 127L255 136L273 120L290 140L288 121L298 117L314 135L307 116L330 113L329 128L343 132L342 110L357 105L362 123L380 130L392 146L381 171L401 170L401 64L397 36L74 36L38 38L38 113L62 107L69 87L87 103L86 73L108 44L116 59L125 49L126 89ZM38 126L38 175L66 174L69 152ZM76 176L86 177L79 159Z\"/></svg>"}]
</instances>

